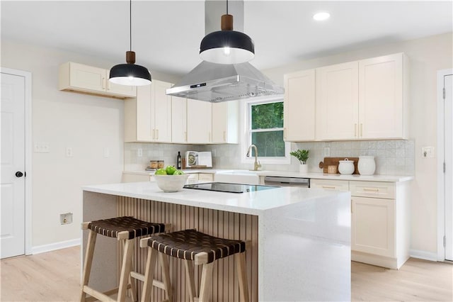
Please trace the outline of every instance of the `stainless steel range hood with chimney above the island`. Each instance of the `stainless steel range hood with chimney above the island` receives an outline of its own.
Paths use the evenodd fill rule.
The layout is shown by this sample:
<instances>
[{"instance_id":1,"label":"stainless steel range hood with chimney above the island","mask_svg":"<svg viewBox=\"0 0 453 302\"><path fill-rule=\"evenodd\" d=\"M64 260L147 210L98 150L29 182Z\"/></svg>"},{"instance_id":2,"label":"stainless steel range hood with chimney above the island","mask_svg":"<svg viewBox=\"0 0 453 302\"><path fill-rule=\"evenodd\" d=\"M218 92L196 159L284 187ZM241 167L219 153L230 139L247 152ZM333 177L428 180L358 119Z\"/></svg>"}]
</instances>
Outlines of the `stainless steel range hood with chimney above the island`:
<instances>
[{"instance_id":1,"label":"stainless steel range hood with chimney above the island","mask_svg":"<svg viewBox=\"0 0 453 302\"><path fill-rule=\"evenodd\" d=\"M243 1L231 1L234 28L243 31ZM219 16L224 13L223 1L205 1L205 33L218 30ZM217 21L213 24L212 19ZM166 89L166 94L199 101L218 103L248 99L253 96L283 94L285 90L250 63L216 64L201 62L177 84Z\"/></svg>"}]
</instances>

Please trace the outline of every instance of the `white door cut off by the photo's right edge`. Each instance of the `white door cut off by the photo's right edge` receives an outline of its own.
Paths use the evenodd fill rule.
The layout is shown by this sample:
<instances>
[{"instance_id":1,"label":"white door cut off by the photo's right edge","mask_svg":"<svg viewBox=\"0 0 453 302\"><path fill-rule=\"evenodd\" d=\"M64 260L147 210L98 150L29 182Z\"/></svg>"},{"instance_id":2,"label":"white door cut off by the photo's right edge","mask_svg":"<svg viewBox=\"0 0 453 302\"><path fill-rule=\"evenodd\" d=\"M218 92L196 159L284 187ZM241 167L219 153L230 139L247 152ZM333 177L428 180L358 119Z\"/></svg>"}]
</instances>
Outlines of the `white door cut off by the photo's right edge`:
<instances>
[{"instance_id":1,"label":"white door cut off by the photo's right edge","mask_svg":"<svg viewBox=\"0 0 453 302\"><path fill-rule=\"evenodd\" d=\"M453 74L445 89L445 259L453 261Z\"/></svg>"}]
</instances>

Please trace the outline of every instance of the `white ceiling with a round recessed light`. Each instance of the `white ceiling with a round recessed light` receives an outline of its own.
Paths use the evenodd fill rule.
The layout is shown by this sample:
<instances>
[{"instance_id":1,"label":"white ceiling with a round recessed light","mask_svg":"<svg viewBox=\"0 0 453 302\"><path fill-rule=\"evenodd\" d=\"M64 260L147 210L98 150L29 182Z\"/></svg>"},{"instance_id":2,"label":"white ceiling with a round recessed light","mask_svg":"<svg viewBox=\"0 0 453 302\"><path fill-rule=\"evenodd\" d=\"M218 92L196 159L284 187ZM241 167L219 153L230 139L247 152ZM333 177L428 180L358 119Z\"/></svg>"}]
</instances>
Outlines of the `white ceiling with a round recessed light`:
<instances>
[{"instance_id":1,"label":"white ceiling with a round recessed light","mask_svg":"<svg viewBox=\"0 0 453 302\"><path fill-rule=\"evenodd\" d=\"M268 69L382 43L452 32L449 1L255 1L244 4L244 32L255 42L251 64ZM129 1L4 1L1 39L57 47L125 62ZM328 11L323 23L311 18ZM214 16L219 19L220 16ZM183 75L201 61L205 3L132 1L137 64Z\"/></svg>"}]
</instances>

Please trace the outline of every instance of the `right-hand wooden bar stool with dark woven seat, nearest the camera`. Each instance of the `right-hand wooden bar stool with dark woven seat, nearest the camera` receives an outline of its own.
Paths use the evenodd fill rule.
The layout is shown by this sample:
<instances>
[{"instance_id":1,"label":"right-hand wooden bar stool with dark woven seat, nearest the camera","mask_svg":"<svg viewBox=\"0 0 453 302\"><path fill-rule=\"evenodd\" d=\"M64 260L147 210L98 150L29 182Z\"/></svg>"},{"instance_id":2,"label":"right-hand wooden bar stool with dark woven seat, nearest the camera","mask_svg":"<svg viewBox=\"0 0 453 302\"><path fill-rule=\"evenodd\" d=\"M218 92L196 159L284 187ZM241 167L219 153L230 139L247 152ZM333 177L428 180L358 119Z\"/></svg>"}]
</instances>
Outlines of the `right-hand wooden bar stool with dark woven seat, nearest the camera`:
<instances>
[{"instance_id":1,"label":"right-hand wooden bar stool with dark woven seat, nearest the camera","mask_svg":"<svg viewBox=\"0 0 453 302\"><path fill-rule=\"evenodd\" d=\"M210 236L197 230L180 230L167 234L154 235L140 240L140 247L148 247L147 264L144 274L144 286L142 302L149 301L153 291L152 280L156 258L159 255L162 272L168 277L168 256L184 260L185 279L190 296L190 301L205 302L210 298L212 286L212 268L214 261L234 255L237 264L240 301L249 301L248 284L246 273L246 242L241 240L228 240ZM165 256L168 255L168 256ZM194 264L202 264L202 276L200 282L200 296L195 293ZM171 286L168 286L168 301L173 299Z\"/></svg>"}]
</instances>

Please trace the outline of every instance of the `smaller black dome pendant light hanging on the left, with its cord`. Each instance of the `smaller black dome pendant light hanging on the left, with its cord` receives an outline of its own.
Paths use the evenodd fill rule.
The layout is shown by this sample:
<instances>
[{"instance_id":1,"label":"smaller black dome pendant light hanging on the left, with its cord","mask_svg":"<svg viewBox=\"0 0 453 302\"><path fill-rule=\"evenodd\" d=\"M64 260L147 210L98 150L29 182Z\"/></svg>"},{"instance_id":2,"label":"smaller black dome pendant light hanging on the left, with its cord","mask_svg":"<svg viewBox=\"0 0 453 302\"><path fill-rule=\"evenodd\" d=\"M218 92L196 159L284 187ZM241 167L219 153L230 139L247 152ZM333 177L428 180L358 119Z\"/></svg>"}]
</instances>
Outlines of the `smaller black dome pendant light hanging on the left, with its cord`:
<instances>
[{"instance_id":1,"label":"smaller black dome pendant light hanging on the left, with its cord","mask_svg":"<svg viewBox=\"0 0 453 302\"><path fill-rule=\"evenodd\" d=\"M132 51L132 0L129 1L130 50L126 52L127 64L118 64L110 69L109 81L127 86L151 84L151 74L146 67L135 64L135 52Z\"/></svg>"}]
</instances>

